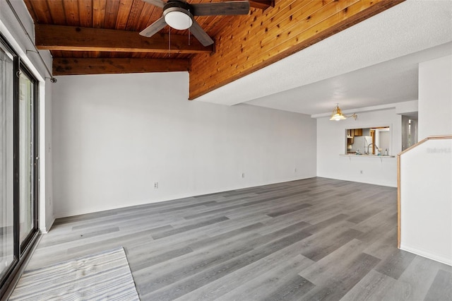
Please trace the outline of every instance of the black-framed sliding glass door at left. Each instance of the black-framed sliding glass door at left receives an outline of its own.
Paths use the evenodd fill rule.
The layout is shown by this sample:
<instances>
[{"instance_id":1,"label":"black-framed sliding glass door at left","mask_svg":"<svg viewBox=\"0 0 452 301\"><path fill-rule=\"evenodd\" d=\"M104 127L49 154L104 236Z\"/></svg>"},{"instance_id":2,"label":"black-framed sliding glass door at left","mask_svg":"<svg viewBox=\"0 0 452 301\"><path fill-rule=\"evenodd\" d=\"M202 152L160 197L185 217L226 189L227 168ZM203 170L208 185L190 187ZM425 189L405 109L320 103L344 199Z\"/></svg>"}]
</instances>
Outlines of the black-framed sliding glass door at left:
<instances>
[{"instance_id":1,"label":"black-framed sliding glass door at left","mask_svg":"<svg viewBox=\"0 0 452 301\"><path fill-rule=\"evenodd\" d=\"M37 81L0 35L0 299L37 237L36 95Z\"/></svg>"}]
</instances>

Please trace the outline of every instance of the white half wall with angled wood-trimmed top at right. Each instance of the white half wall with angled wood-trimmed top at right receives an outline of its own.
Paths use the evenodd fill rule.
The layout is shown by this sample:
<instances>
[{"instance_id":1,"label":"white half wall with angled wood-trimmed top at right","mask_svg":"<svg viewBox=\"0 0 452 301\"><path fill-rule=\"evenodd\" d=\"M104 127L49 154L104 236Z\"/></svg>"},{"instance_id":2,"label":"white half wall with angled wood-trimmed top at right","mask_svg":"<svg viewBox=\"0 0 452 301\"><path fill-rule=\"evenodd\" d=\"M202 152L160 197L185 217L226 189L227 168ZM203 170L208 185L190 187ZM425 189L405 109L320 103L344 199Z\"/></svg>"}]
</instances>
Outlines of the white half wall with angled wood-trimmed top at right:
<instances>
[{"instance_id":1,"label":"white half wall with angled wood-trimmed top at right","mask_svg":"<svg viewBox=\"0 0 452 301\"><path fill-rule=\"evenodd\" d=\"M400 248L452 265L452 140L400 156Z\"/></svg>"}]
</instances>

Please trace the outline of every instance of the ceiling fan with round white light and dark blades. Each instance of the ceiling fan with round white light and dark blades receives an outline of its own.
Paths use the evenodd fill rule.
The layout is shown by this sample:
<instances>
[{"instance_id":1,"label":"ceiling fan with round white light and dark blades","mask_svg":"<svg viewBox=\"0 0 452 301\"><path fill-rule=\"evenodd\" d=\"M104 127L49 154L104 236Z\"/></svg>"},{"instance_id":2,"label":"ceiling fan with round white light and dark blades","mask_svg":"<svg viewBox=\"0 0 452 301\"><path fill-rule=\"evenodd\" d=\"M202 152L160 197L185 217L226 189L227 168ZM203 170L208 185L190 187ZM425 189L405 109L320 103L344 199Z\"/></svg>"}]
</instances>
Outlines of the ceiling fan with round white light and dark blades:
<instances>
[{"instance_id":1,"label":"ceiling fan with round white light and dark blades","mask_svg":"<svg viewBox=\"0 0 452 301\"><path fill-rule=\"evenodd\" d=\"M140 35L151 37L166 25L177 30L190 29L190 32L208 46L213 40L196 22L194 16L227 16L246 15L249 12L249 1L227 1L203 4L188 4L185 0L143 0L163 8L163 16L141 31Z\"/></svg>"}]
</instances>

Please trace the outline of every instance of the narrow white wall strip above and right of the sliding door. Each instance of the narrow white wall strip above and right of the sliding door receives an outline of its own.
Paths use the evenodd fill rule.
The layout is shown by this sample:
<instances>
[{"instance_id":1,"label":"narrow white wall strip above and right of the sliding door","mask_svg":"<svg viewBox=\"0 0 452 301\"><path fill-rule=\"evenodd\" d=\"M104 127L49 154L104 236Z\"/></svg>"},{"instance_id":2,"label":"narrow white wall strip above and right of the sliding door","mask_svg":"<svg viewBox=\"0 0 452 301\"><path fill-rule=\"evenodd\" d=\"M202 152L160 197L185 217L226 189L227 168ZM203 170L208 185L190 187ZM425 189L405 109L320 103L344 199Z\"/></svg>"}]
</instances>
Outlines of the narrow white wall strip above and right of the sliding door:
<instances>
[{"instance_id":1,"label":"narrow white wall strip above and right of the sliding door","mask_svg":"<svg viewBox=\"0 0 452 301\"><path fill-rule=\"evenodd\" d=\"M14 11L18 14L20 21L23 23L25 30L30 37L35 36L35 28L32 18L23 1L11 1ZM49 70L52 70L52 57L48 51L40 51L44 59L44 63L35 53L33 47L34 42L30 42L23 28L20 26L16 16L6 1L0 1L0 33L6 37L8 43L13 47L21 61L30 69L31 73L37 79L40 93L38 95L39 103L39 129L40 129L40 182L39 182L39 228L42 232L46 232L54 221L52 202L52 157L46 153L45 146L51 143L52 137L51 124L46 119L52 107L49 105L51 97L51 83L45 81L49 74L44 64ZM28 51L27 51L28 50ZM31 50L31 51L30 51Z\"/></svg>"}]
</instances>

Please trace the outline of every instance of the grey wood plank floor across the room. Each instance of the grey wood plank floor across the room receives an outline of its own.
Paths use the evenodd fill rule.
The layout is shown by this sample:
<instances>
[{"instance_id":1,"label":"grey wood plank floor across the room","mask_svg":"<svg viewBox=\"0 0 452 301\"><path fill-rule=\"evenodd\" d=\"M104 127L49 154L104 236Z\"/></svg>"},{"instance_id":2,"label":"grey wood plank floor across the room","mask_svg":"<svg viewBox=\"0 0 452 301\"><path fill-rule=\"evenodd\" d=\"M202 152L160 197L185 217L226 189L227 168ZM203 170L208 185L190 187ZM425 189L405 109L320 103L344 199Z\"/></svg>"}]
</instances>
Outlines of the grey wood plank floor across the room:
<instances>
[{"instance_id":1,"label":"grey wood plank floor across the room","mask_svg":"<svg viewBox=\"0 0 452 301\"><path fill-rule=\"evenodd\" d=\"M123 246L141 300L452 300L396 189L311 178L56 220L27 269Z\"/></svg>"}]
</instances>

